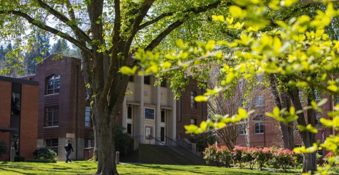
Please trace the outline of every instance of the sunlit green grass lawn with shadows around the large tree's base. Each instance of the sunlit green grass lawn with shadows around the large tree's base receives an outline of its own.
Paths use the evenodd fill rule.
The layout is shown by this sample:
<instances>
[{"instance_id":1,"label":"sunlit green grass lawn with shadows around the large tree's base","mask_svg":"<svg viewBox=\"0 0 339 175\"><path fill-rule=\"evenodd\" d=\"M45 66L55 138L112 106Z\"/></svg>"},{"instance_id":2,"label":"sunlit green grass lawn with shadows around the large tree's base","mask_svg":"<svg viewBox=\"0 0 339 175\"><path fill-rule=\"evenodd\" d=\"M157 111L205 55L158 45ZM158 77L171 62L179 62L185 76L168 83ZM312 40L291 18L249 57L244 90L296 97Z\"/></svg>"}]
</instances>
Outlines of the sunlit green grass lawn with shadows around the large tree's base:
<instances>
[{"instance_id":1,"label":"sunlit green grass lawn with shadows around the large tree's base","mask_svg":"<svg viewBox=\"0 0 339 175\"><path fill-rule=\"evenodd\" d=\"M212 166L121 163L117 167L120 175L283 175L283 173ZM73 163L0 161L1 175L92 175L96 172L96 168L97 162L89 161Z\"/></svg>"}]
</instances>

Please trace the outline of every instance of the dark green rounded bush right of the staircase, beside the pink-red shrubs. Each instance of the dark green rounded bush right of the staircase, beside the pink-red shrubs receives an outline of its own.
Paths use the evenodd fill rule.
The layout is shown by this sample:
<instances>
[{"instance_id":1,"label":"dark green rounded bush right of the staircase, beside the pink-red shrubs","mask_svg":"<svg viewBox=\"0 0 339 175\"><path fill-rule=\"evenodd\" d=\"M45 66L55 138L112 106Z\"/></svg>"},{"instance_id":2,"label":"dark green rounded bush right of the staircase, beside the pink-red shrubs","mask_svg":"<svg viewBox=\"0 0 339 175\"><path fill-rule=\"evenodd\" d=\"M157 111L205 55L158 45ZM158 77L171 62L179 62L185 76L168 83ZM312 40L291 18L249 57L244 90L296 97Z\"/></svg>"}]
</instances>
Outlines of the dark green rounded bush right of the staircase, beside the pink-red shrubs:
<instances>
[{"instance_id":1,"label":"dark green rounded bush right of the staircase, beside the pink-red shrubs","mask_svg":"<svg viewBox=\"0 0 339 175\"><path fill-rule=\"evenodd\" d=\"M194 142L197 143L197 152L204 151L208 146L216 144L218 138L214 132L194 135Z\"/></svg>"}]
</instances>

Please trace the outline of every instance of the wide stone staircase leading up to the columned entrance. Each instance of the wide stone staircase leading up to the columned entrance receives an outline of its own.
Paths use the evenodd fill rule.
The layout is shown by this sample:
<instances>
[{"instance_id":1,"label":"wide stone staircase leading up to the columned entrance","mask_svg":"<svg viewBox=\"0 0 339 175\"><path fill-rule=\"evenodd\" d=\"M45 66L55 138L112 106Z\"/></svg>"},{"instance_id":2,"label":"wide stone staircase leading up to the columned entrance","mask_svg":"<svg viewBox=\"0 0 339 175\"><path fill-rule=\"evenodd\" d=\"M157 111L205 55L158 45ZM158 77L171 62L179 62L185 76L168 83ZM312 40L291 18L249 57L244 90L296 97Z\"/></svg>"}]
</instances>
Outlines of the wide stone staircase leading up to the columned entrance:
<instances>
[{"instance_id":1,"label":"wide stone staircase leading up to the columned entrance","mask_svg":"<svg viewBox=\"0 0 339 175\"><path fill-rule=\"evenodd\" d=\"M172 148L184 154L181 156L170 150L166 146L139 144L139 149L125 156L120 156L120 162L125 163L148 163L148 164L168 164L168 165L207 165L206 161L182 147L172 146ZM210 162L210 166L216 166L215 162Z\"/></svg>"}]
</instances>

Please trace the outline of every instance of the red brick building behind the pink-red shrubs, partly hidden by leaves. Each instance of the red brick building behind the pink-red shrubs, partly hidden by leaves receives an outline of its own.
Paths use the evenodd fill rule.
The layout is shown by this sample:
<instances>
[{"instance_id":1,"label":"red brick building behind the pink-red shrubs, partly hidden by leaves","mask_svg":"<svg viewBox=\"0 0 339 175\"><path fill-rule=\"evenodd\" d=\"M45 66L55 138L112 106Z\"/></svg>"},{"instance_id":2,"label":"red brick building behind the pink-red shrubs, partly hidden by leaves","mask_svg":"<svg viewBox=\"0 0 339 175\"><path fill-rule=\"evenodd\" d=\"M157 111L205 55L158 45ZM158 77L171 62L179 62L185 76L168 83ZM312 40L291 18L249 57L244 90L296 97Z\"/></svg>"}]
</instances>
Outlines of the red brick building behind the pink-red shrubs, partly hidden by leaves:
<instances>
[{"instance_id":1,"label":"red brick building behind the pink-red shrubs, partly hidden by leaves","mask_svg":"<svg viewBox=\"0 0 339 175\"><path fill-rule=\"evenodd\" d=\"M303 92L299 92L299 96L299 98L302 99L302 106L307 106L307 97L305 97L306 95L304 95ZM315 91L315 102L319 102L322 98L334 100L329 100L321 106L323 113L316 111L316 118L318 120L318 133L316 134L316 142L318 141L319 143L323 143L323 138L328 137L330 134L334 134L334 131L324 127L319 122L319 119L321 117L329 119L330 117L328 117L327 112L333 111L333 106L335 106L336 103L339 103L339 97L330 97L328 94L320 94L319 92ZM270 89L263 85L256 85L256 87L253 89L252 96L248 101L248 105L246 106L248 111L255 110L255 113L249 117L249 125L246 128L246 131L239 131L236 145L249 147L282 147L283 144L279 123L272 117L267 117L265 115L266 112L272 113L275 106L274 98ZM307 117L305 110L304 115ZM290 126L294 127L293 136L295 147L302 146L300 134L296 129L296 126L296 121L294 122L294 126ZM317 153L320 155L326 155L328 151L325 149L318 150Z\"/></svg>"}]
</instances>

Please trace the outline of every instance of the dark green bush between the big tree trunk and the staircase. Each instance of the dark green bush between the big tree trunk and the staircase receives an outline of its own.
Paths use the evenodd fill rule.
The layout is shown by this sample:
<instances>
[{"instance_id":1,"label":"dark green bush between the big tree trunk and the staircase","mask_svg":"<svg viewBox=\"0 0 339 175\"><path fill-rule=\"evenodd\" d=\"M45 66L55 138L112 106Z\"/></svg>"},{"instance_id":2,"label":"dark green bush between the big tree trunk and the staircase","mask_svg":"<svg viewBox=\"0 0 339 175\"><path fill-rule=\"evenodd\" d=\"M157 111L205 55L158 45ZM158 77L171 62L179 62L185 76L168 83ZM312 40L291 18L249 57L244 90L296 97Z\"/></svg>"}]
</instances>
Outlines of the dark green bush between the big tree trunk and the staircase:
<instances>
[{"instance_id":1,"label":"dark green bush between the big tree trunk and the staircase","mask_svg":"<svg viewBox=\"0 0 339 175\"><path fill-rule=\"evenodd\" d=\"M114 125L115 151L119 151L120 155L125 155L130 152L129 146L132 139L125 130L125 128L117 124Z\"/></svg>"}]
</instances>

